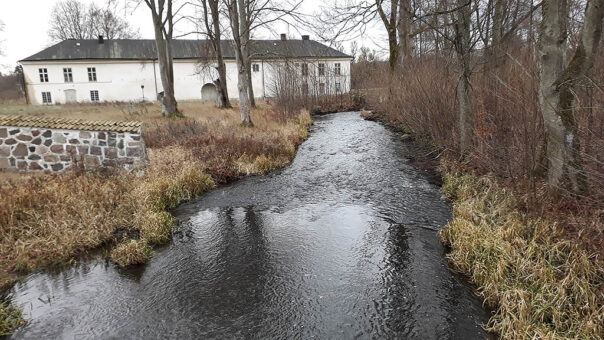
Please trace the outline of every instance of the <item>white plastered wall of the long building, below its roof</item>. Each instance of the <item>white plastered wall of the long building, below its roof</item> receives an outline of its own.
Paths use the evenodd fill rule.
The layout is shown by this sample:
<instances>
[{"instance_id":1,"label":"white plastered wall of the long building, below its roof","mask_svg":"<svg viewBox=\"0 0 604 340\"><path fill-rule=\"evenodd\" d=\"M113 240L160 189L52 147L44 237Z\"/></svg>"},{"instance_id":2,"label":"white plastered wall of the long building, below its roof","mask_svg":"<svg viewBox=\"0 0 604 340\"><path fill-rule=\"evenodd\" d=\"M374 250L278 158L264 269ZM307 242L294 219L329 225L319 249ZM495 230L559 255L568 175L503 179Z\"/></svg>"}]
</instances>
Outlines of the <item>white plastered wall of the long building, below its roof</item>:
<instances>
[{"instance_id":1,"label":"white plastered wall of the long building, below its roof","mask_svg":"<svg viewBox=\"0 0 604 340\"><path fill-rule=\"evenodd\" d=\"M341 64L341 79L344 92L350 89L350 60L349 59L322 59L322 60L298 60L298 65L307 62L316 68L318 62L328 65L333 69L335 63ZM262 61L253 60L252 64L258 64L259 70L252 71L252 86L254 96L263 98L270 96L271 84L274 83L274 70L276 66L283 65L284 61ZM225 61L227 68L227 90L229 97L238 98L237 91L237 65L234 60ZM314 65L314 67L312 66ZM63 76L63 68L70 67L73 74L73 82L66 83ZM88 67L96 68L97 80L88 80ZM39 69L48 70L47 83L40 82ZM46 61L46 62L23 62L23 72L27 84L27 94L31 104L40 105L42 92L50 92L52 104L64 104L67 101L66 90L75 90L78 102L90 102L90 91L96 90L99 101L141 101L155 100L157 93L163 90L159 65L156 61ZM216 70L212 65L200 67L196 60L174 61L174 87L177 100L201 100L201 88L213 79L218 78ZM144 88L141 88L141 85Z\"/></svg>"}]
</instances>

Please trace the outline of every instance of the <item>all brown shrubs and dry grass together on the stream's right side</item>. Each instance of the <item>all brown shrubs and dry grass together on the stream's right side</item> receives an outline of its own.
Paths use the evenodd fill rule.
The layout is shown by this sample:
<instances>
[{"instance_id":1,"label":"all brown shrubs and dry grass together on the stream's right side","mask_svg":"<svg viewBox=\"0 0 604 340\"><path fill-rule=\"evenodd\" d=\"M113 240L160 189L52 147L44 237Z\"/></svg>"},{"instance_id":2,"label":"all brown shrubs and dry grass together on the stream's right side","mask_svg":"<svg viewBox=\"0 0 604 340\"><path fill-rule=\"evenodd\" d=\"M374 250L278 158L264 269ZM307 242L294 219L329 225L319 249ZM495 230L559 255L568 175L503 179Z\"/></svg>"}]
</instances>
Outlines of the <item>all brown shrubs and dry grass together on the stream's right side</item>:
<instances>
[{"instance_id":1,"label":"all brown shrubs and dry grass together on the stream's right side","mask_svg":"<svg viewBox=\"0 0 604 340\"><path fill-rule=\"evenodd\" d=\"M389 77L388 64L367 53L353 65L363 76L353 80L380 120L433 148L426 157L438 159L443 174L455 174L445 176L454 219L442 237L453 267L469 275L495 308L487 328L505 339L599 339L604 332L604 50L586 75L572 80L574 104L564 112L580 140L582 162L573 166L586 190L552 185L531 25L523 26L528 36L512 30L491 49L471 53L472 137L464 151L460 60L447 41L427 36L427 51L399 66L390 89L380 86ZM570 34L572 46L577 31ZM572 56L573 48L566 53Z\"/></svg>"}]
</instances>

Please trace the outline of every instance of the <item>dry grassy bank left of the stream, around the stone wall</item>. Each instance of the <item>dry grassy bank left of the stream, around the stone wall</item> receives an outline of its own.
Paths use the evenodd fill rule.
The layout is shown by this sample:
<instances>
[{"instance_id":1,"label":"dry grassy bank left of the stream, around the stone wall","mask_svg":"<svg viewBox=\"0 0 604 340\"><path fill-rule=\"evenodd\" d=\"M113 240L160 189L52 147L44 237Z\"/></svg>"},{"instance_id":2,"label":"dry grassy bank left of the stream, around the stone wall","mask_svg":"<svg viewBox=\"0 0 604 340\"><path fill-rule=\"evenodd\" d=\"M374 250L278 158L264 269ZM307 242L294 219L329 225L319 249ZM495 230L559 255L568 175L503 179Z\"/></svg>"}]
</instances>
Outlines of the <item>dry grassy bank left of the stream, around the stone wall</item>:
<instances>
[{"instance_id":1,"label":"dry grassy bank left of the stream, around the stone wall","mask_svg":"<svg viewBox=\"0 0 604 340\"><path fill-rule=\"evenodd\" d=\"M106 117L122 112L107 108ZM160 118L154 106L145 110L139 116L150 161L144 172L0 173L0 289L101 246L119 265L147 261L154 245L170 240L169 209L216 185L287 165L311 124L308 113L283 117L267 105L253 110L253 128L240 126L237 109L189 107L181 120ZM14 309L3 307L0 327L15 325L14 317Z\"/></svg>"}]
</instances>

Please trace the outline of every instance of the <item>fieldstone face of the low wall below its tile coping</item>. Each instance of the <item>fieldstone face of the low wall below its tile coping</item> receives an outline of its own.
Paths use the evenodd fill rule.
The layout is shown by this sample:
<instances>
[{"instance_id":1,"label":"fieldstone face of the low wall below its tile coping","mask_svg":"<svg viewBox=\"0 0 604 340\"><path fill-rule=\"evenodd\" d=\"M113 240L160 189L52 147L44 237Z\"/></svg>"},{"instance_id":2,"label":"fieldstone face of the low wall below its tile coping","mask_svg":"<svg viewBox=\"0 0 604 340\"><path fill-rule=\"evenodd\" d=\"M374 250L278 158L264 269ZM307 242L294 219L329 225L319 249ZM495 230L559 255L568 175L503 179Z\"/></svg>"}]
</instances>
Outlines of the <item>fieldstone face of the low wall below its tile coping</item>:
<instances>
[{"instance_id":1,"label":"fieldstone face of the low wall below its tile coping","mask_svg":"<svg viewBox=\"0 0 604 340\"><path fill-rule=\"evenodd\" d=\"M0 170L60 173L79 167L133 170L147 162L138 132L0 126Z\"/></svg>"}]
</instances>

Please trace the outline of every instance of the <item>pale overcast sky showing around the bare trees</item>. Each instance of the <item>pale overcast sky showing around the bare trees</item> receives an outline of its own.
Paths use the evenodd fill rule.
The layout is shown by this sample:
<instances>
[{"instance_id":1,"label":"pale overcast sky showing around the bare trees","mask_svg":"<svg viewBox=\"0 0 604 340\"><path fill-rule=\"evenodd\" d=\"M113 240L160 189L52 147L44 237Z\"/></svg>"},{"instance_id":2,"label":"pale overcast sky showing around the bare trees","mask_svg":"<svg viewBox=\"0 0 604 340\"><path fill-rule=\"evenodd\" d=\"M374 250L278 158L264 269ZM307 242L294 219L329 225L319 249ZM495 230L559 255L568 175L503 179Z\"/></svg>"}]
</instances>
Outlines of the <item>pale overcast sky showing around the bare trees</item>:
<instances>
[{"instance_id":1,"label":"pale overcast sky showing around the bare trees","mask_svg":"<svg viewBox=\"0 0 604 340\"><path fill-rule=\"evenodd\" d=\"M59 0L0 0L0 21L4 23L4 32L0 32L0 44L3 55L0 56L0 71L14 69L17 61L27 58L42 49L51 45L48 38L48 21L49 14L56 2ZM103 5L103 0L82 0L85 3L96 2L98 5ZM304 2L304 11L312 13L316 11L319 4L324 4L324 1L306 0ZM151 23L149 9L141 5L137 10L122 9L119 13L127 18L130 24L140 30L141 37L153 39L153 25ZM274 25L273 25L274 26ZM187 31L185 25L180 24L182 32ZM274 28L274 27L273 27ZM274 29L275 33L263 32L258 38L276 38L271 36L276 32L289 31L290 36L294 38L299 35L292 27L287 27L285 24L278 25ZM309 33L309 32L302 32ZM312 39L312 33L311 39ZM189 39L196 38L195 36L187 37ZM379 41L376 37L365 37L359 41L359 45L366 45L370 48L379 48L376 44ZM349 52L350 41L343 43L346 52Z\"/></svg>"}]
</instances>

